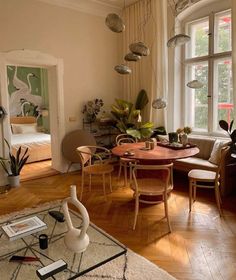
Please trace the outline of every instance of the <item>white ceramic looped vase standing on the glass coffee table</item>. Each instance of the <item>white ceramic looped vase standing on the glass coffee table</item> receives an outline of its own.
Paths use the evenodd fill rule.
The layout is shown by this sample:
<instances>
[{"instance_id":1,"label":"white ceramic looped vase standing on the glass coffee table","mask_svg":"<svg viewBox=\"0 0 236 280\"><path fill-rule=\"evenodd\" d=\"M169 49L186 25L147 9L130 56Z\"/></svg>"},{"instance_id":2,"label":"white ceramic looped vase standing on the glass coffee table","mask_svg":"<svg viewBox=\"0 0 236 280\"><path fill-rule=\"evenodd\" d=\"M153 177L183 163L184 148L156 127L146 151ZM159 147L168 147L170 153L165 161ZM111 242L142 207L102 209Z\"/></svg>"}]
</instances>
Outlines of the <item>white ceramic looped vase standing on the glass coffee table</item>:
<instances>
[{"instance_id":1,"label":"white ceramic looped vase standing on the glass coffee table","mask_svg":"<svg viewBox=\"0 0 236 280\"><path fill-rule=\"evenodd\" d=\"M68 232L64 237L64 242L69 250L75 253L81 253L85 251L89 245L89 237L86 233L89 226L89 215L84 205L77 199L76 186L71 186L70 193L71 196L64 199L62 202L62 209L68 226ZM79 209L82 216L81 229L77 229L73 226L68 210L68 203L73 204Z\"/></svg>"}]
</instances>

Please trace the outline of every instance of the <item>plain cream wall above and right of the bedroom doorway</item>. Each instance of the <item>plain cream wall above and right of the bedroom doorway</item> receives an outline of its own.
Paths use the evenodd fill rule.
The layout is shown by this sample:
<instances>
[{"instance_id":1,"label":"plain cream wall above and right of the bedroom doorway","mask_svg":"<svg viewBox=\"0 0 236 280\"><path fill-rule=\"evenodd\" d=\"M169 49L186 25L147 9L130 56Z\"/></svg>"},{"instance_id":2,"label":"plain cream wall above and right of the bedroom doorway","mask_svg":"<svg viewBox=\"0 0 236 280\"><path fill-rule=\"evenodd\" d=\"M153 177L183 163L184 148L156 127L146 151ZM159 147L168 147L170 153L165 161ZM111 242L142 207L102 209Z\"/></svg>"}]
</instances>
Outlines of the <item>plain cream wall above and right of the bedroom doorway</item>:
<instances>
[{"instance_id":1,"label":"plain cream wall above and right of the bedroom doorway","mask_svg":"<svg viewBox=\"0 0 236 280\"><path fill-rule=\"evenodd\" d=\"M66 131L81 127L85 102L102 98L109 110L121 94L113 70L119 63L119 35L103 17L36 0L0 0L0 19L0 52L31 49L63 59Z\"/></svg>"}]
</instances>

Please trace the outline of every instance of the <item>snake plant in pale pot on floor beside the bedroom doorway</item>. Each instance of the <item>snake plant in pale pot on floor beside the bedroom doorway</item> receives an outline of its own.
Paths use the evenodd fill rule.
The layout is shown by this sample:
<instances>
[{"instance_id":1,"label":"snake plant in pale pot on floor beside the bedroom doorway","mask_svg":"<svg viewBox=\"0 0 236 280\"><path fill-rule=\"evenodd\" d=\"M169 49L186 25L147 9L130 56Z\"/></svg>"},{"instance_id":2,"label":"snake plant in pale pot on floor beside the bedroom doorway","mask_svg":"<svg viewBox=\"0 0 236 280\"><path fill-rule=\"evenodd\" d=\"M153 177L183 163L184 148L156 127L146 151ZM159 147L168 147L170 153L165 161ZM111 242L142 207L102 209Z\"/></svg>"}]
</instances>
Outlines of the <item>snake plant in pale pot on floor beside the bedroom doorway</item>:
<instances>
[{"instance_id":1,"label":"snake plant in pale pot on floor beside the bedroom doorway","mask_svg":"<svg viewBox=\"0 0 236 280\"><path fill-rule=\"evenodd\" d=\"M20 185L20 172L23 166L26 164L29 155L27 155L28 148L21 155L22 148L21 146L17 149L16 155L13 155L11 148L6 139L4 139L8 149L9 149L9 158L0 157L0 164L2 168L8 175L9 184L12 187L17 187Z\"/></svg>"}]
</instances>

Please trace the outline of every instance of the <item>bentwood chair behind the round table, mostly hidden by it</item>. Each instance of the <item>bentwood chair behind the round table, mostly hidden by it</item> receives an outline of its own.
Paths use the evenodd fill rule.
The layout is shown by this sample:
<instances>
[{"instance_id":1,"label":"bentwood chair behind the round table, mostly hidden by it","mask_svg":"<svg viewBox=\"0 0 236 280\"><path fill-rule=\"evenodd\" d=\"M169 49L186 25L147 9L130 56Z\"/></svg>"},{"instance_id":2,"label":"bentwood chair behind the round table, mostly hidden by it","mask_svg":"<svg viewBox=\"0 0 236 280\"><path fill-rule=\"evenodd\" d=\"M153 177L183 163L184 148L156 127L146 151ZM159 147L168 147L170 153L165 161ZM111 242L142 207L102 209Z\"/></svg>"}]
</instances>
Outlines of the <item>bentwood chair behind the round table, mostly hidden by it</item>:
<instances>
[{"instance_id":1,"label":"bentwood chair behind the round table, mostly hidden by it","mask_svg":"<svg viewBox=\"0 0 236 280\"><path fill-rule=\"evenodd\" d=\"M119 134L116 137L116 145L122 145L122 144L127 144L127 143L135 143L136 141L134 138L128 134ZM129 168L130 163L135 163L135 159L130 159L130 158L125 158L121 157L120 158L120 165L119 165L119 172L118 172L118 177L120 178L122 167L124 170L124 185L127 186L127 169ZM131 169L130 169L130 176L131 178Z\"/></svg>"}]
</instances>

